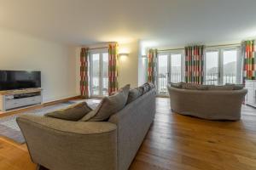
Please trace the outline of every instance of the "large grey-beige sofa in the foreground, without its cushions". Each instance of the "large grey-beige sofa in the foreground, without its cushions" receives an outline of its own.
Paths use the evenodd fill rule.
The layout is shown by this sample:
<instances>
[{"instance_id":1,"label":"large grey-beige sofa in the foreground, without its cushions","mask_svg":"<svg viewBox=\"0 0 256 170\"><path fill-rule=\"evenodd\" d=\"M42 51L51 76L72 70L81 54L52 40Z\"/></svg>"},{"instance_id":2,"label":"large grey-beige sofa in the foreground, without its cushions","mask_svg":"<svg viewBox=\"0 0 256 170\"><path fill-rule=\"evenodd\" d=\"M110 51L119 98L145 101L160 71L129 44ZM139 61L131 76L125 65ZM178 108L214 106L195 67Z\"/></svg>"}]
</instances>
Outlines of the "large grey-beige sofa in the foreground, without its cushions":
<instances>
[{"instance_id":1,"label":"large grey-beige sofa in the foreground, without its cushions","mask_svg":"<svg viewBox=\"0 0 256 170\"><path fill-rule=\"evenodd\" d=\"M126 170L155 114L155 90L108 122L69 122L46 116L17 119L32 161L50 170Z\"/></svg>"}]
</instances>

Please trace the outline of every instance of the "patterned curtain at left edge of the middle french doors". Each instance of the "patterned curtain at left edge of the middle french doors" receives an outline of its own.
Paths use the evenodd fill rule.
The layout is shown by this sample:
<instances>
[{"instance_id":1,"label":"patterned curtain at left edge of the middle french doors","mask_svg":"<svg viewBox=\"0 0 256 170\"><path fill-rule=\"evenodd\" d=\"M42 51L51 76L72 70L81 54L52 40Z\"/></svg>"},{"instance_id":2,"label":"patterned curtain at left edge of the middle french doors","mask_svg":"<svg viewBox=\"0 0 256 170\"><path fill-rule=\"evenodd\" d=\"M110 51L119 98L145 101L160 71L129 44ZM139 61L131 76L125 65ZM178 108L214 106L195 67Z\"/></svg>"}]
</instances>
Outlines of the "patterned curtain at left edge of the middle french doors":
<instances>
[{"instance_id":1,"label":"patterned curtain at left edge of the middle french doors","mask_svg":"<svg viewBox=\"0 0 256 170\"><path fill-rule=\"evenodd\" d=\"M157 49L148 50L148 82L155 84L156 77Z\"/></svg>"}]
</instances>

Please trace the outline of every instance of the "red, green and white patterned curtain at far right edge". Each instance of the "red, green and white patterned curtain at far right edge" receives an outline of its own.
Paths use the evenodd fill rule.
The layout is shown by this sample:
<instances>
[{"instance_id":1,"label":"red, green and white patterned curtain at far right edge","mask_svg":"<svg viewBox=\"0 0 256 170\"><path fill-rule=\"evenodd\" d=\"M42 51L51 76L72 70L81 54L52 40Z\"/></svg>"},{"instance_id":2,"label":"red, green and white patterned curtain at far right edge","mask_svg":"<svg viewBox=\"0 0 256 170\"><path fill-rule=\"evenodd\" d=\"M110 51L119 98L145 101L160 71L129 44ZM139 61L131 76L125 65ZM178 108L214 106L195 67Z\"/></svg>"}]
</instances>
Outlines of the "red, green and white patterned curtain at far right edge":
<instances>
[{"instance_id":1,"label":"red, green and white patterned curtain at far right edge","mask_svg":"<svg viewBox=\"0 0 256 170\"><path fill-rule=\"evenodd\" d=\"M242 42L243 61L243 80L255 80L256 62L255 62L255 41Z\"/></svg>"}]
</instances>

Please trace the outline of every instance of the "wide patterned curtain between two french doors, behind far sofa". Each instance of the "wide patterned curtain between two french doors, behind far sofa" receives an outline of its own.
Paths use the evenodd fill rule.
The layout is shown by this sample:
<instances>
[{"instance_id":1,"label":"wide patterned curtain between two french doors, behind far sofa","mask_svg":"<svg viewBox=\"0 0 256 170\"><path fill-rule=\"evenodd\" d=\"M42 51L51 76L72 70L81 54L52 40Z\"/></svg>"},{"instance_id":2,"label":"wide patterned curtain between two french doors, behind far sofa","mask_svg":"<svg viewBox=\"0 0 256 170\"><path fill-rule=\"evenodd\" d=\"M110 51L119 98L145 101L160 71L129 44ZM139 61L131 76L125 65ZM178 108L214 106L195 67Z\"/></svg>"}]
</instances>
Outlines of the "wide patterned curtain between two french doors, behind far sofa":
<instances>
[{"instance_id":1,"label":"wide patterned curtain between two french doors, behind far sofa","mask_svg":"<svg viewBox=\"0 0 256 170\"><path fill-rule=\"evenodd\" d=\"M204 82L204 47L186 47L185 56L185 81L202 84Z\"/></svg>"}]
</instances>

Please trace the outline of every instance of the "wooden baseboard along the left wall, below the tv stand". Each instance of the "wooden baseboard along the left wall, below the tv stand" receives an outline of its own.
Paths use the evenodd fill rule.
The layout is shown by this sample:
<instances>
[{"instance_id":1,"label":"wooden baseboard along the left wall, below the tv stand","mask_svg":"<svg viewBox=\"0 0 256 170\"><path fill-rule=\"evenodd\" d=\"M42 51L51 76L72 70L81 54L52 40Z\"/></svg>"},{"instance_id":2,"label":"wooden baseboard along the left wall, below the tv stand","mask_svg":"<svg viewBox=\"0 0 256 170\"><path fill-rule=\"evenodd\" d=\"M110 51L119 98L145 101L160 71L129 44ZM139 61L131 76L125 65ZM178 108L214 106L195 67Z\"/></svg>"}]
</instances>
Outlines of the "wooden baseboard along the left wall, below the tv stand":
<instances>
[{"instance_id":1,"label":"wooden baseboard along the left wall, below the tv stand","mask_svg":"<svg viewBox=\"0 0 256 170\"><path fill-rule=\"evenodd\" d=\"M45 106L56 105L56 104L59 104L59 103L63 103L65 101L69 101L69 100L72 100L72 99L81 99L81 96L73 96L73 97L70 97L70 98L58 99L58 100L55 100L55 101L46 102L46 103L43 103L42 105L32 105L32 106L27 106L27 107L24 107L24 108L16 109L16 110L13 110L13 111L0 112L0 117L11 116L11 115L15 115L17 113L25 112L25 111L32 111L32 110L35 110L35 109L43 108Z\"/></svg>"}]
</instances>

